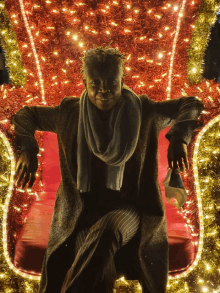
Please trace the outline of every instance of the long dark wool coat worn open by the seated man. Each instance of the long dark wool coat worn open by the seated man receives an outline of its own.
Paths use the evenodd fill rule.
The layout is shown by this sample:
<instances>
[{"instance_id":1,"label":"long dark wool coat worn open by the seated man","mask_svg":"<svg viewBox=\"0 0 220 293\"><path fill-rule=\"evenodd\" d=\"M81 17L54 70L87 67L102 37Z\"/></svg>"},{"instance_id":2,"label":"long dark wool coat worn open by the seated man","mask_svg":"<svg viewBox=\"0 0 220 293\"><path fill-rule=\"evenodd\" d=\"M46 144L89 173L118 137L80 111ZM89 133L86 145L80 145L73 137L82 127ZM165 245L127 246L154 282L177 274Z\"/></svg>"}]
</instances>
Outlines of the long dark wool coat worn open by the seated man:
<instances>
[{"instance_id":1,"label":"long dark wool coat worn open by the seated man","mask_svg":"<svg viewBox=\"0 0 220 293\"><path fill-rule=\"evenodd\" d=\"M122 201L137 207L141 224L135 237L118 250L115 263L119 275L140 281L143 293L165 293L168 238L165 209L158 185L158 136L162 129L172 125L167 139L175 137L188 144L203 105L195 97L163 102L154 102L146 95L139 97L142 101L140 136L134 154L125 164L119 193ZM59 253L64 251L69 236L74 235L77 227L80 229L79 219L83 218L85 212L83 195L76 186L78 119L79 98L72 97L64 98L55 107L24 106L13 117L17 145L21 151L32 149L38 153L35 130L55 132L59 145L62 181L57 190L39 293L53 292L48 288L55 278L48 275L48 266L51 263L50 267L53 267L53 260L59 259Z\"/></svg>"}]
</instances>

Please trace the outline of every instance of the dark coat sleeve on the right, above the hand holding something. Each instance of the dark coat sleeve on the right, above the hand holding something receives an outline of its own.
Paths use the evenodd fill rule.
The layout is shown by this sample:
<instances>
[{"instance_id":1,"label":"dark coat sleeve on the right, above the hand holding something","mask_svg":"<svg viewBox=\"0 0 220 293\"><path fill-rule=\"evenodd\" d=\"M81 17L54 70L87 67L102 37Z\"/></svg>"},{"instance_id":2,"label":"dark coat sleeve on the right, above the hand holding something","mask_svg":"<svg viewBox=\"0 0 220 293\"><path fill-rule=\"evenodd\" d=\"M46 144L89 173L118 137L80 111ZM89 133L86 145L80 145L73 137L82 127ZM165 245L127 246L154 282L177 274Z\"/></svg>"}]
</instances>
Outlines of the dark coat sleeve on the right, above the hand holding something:
<instances>
[{"instance_id":1,"label":"dark coat sleeve on the right, above the hand holding something","mask_svg":"<svg viewBox=\"0 0 220 293\"><path fill-rule=\"evenodd\" d=\"M203 103L196 97L182 97L154 103L156 121L160 130L172 126L166 138L169 141L175 138L188 145L198 127L197 119L204 109Z\"/></svg>"}]
</instances>

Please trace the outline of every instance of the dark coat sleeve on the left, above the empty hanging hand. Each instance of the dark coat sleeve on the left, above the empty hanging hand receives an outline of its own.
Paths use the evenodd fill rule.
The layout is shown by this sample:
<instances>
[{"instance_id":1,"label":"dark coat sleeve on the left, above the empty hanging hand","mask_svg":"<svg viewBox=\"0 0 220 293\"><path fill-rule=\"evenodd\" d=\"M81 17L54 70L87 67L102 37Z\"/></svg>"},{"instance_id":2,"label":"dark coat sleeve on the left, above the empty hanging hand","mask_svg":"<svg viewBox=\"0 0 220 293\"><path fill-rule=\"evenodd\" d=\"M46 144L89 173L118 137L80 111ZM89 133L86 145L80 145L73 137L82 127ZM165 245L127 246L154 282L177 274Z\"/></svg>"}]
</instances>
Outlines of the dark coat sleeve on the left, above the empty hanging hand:
<instances>
[{"instance_id":1,"label":"dark coat sleeve on the left, above the empty hanging hand","mask_svg":"<svg viewBox=\"0 0 220 293\"><path fill-rule=\"evenodd\" d=\"M32 150L39 153L35 131L56 133L56 120L60 106L24 106L12 116L16 137L16 151Z\"/></svg>"}]
</instances>

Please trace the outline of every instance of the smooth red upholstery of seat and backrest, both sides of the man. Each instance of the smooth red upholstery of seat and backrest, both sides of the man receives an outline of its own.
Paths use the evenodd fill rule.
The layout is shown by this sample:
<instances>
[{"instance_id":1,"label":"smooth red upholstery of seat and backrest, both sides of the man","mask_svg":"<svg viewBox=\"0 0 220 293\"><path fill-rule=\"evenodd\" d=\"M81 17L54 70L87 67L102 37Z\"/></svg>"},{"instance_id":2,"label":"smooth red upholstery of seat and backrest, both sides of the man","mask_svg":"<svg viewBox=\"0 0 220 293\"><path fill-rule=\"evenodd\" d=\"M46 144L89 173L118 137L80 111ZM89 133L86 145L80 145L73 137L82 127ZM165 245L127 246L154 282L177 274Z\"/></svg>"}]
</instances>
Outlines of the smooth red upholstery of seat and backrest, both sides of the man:
<instances>
[{"instance_id":1,"label":"smooth red upholstery of seat and backrest, both sides of the man","mask_svg":"<svg viewBox=\"0 0 220 293\"><path fill-rule=\"evenodd\" d=\"M174 206L166 203L163 179L167 173L168 140L165 133L159 136L159 185L165 204L167 232L169 241L169 271L170 274L181 272L195 259L194 245L186 220ZM15 244L14 265L27 272L40 274L43 257L49 240L50 223L53 206L61 181L59 168L59 152L56 134L44 133L44 192L39 193L39 200L32 204L22 230Z\"/></svg>"}]
</instances>

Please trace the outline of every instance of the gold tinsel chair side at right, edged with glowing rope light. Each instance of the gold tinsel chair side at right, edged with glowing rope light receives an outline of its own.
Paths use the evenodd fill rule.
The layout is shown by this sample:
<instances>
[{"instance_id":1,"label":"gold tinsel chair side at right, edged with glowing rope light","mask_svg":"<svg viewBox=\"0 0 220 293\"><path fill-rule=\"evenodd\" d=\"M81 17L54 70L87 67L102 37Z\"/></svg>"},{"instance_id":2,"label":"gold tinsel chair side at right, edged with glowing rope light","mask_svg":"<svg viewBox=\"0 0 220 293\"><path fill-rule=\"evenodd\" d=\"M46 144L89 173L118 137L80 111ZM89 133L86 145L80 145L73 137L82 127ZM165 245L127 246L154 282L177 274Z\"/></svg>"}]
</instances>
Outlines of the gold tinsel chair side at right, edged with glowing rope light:
<instances>
[{"instance_id":1,"label":"gold tinsel chair side at right, edged with glowing rope light","mask_svg":"<svg viewBox=\"0 0 220 293\"><path fill-rule=\"evenodd\" d=\"M220 292L219 126L220 116L202 129L195 143L193 169L200 221L199 250L194 264L185 272L188 275L170 280L168 292Z\"/></svg>"}]
</instances>

